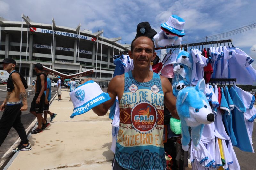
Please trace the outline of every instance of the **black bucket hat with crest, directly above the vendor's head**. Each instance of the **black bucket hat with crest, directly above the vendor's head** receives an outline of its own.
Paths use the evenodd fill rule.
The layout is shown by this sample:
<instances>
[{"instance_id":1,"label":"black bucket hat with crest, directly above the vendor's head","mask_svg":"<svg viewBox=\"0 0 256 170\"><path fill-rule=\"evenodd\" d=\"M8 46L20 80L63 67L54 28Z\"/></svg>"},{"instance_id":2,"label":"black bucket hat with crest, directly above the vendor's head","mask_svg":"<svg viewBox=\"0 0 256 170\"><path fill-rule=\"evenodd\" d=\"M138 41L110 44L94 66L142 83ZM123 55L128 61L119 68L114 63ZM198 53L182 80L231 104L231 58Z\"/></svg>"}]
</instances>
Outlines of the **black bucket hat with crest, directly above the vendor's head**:
<instances>
[{"instance_id":1,"label":"black bucket hat with crest, directly above the vendor's head","mask_svg":"<svg viewBox=\"0 0 256 170\"><path fill-rule=\"evenodd\" d=\"M149 22L141 22L137 25L137 34L135 38L140 36L146 36L148 38L153 38L157 32L151 28Z\"/></svg>"}]
</instances>

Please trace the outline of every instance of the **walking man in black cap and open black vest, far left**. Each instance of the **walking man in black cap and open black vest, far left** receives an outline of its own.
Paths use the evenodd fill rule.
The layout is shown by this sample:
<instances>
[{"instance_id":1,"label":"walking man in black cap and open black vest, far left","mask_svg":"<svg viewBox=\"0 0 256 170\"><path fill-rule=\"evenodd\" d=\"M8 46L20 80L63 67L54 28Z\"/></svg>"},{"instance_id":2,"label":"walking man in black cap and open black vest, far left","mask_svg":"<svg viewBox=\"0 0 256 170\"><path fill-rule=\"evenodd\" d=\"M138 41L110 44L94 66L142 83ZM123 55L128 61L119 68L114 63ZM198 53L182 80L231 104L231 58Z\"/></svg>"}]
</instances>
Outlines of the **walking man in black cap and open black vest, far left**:
<instances>
[{"instance_id":1,"label":"walking man in black cap and open black vest, far left","mask_svg":"<svg viewBox=\"0 0 256 170\"><path fill-rule=\"evenodd\" d=\"M28 151L31 149L31 146L28 143L26 130L21 123L20 117L21 111L25 111L28 108L25 90L28 86L24 77L19 72L15 71L15 60L5 58L0 64L3 64L3 69L10 74L7 81L8 92L4 102L0 105L0 110L4 110L2 118L0 119L0 146L7 137L11 127L13 127L17 131L21 142L12 152Z\"/></svg>"}]
</instances>

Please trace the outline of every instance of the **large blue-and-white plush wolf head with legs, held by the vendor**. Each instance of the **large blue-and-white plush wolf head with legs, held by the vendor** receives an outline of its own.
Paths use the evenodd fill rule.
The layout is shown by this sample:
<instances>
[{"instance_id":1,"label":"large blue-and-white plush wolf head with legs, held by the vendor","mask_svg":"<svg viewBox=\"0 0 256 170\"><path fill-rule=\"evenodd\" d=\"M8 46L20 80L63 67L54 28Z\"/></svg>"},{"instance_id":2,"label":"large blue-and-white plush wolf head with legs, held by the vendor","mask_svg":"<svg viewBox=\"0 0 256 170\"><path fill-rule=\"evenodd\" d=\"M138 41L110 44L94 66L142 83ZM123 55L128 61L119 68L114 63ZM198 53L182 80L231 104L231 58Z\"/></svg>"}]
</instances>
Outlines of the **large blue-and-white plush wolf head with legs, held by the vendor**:
<instances>
[{"instance_id":1,"label":"large blue-and-white plush wolf head with legs, held by the vendor","mask_svg":"<svg viewBox=\"0 0 256 170\"><path fill-rule=\"evenodd\" d=\"M205 81L202 79L196 86L180 90L177 96L176 108L181 120L181 144L184 151L188 151L190 138L195 147L198 145L204 124L214 122L215 117L204 95L204 89Z\"/></svg>"}]
</instances>

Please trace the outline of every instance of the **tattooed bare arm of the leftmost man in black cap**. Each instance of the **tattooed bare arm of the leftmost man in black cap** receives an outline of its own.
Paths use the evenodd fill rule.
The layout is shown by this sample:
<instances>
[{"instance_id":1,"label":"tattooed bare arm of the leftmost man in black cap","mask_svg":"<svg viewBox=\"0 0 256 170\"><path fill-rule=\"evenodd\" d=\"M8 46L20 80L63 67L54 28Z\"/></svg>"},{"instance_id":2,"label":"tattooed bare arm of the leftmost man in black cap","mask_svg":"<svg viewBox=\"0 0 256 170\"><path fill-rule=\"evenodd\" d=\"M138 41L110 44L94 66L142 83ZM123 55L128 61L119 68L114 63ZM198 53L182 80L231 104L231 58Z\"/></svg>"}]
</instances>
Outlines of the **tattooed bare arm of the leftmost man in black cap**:
<instances>
[{"instance_id":1,"label":"tattooed bare arm of the leftmost man in black cap","mask_svg":"<svg viewBox=\"0 0 256 170\"><path fill-rule=\"evenodd\" d=\"M26 89L21 81L20 75L18 73L12 73L12 81L17 85L17 87L20 89L20 96L22 98L23 106L21 107L21 111L28 109L28 103L27 103L27 95L26 95Z\"/></svg>"}]
</instances>

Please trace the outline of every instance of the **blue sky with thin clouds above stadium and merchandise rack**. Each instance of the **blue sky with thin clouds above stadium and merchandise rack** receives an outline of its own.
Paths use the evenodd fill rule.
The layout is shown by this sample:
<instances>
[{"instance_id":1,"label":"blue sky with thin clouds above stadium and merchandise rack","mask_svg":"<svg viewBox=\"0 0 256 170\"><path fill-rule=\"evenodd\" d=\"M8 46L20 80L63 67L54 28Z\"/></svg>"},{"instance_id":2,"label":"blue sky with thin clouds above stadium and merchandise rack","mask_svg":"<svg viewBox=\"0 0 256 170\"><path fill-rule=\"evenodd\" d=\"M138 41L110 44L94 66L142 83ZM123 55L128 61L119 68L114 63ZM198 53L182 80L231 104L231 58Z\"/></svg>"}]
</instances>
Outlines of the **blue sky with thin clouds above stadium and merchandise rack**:
<instances>
[{"instance_id":1,"label":"blue sky with thin clouds above stadium and merchandise rack","mask_svg":"<svg viewBox=\"0 0 256 170\"><path fill-rule=\"evenodd\" d=\"M121 43L130 44L136 35L137 24L148 21L160 31L160 24L171 15L185 19L183 37L185 43L206 35L214 35L256 22L255 0L4 0L0 1L0 16L21 21L21 13L38 23L52 23L81 29L104 30L104 37L122 37ZM254 21L254 22L253 22ZM256 60L256 28L236 35L232 39L239 47ZM256 61L253 63L256 68Z\"/></svg>"}]
</instances>

